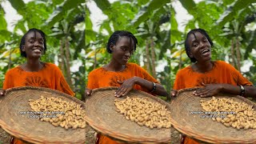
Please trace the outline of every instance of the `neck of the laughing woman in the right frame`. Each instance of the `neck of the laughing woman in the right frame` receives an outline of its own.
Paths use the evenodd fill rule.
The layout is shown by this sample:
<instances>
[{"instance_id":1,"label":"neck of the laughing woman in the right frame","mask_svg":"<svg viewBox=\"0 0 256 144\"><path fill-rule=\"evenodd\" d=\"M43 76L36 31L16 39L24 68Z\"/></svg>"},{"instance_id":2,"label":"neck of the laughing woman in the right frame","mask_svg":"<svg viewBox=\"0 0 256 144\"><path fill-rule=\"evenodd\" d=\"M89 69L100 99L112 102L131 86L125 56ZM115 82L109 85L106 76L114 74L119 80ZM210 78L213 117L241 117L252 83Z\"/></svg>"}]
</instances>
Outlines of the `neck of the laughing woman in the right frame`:
<instances>
[{"instance_id":1,"label":"neck of the laughing woman in the right frame","mask_svg":"<svg viewBox=\"0 0 256 144\"><path fill-rule=\"evenodd\" d=\"M206 61L206 62L196 62L194 66L192 66L193 70L198 73L206 73L213 69L214 62Z\"/></svg>"}]
</instances>

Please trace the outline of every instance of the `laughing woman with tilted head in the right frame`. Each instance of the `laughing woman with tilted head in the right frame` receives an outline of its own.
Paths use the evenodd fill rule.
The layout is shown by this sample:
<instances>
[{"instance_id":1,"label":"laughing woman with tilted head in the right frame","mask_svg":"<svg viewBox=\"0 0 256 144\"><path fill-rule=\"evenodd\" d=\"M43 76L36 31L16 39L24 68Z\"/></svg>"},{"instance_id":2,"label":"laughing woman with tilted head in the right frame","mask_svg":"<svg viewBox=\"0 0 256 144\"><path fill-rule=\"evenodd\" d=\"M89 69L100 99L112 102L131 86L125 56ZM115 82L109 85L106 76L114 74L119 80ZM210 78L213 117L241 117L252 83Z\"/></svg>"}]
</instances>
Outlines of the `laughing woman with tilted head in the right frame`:
<instances>
[{"instance_id":1,"label":"laughing woman with tilted head in the right frame","mask_svg":"<svg viewBox=\"0 0 256 144\"><path fill-rule=\"evenodd\" d=\"M206 30L190 30L185 48L193 64L178 71L171 95L175 96L180 89L202 86L194 91L195 96L210 97L222 92L256 97L256 88L238 70L226 62L211 60L212 46L214 43ZM198 143L187 137L183 138L183 142Z\"/></svg>"}]
</instances>

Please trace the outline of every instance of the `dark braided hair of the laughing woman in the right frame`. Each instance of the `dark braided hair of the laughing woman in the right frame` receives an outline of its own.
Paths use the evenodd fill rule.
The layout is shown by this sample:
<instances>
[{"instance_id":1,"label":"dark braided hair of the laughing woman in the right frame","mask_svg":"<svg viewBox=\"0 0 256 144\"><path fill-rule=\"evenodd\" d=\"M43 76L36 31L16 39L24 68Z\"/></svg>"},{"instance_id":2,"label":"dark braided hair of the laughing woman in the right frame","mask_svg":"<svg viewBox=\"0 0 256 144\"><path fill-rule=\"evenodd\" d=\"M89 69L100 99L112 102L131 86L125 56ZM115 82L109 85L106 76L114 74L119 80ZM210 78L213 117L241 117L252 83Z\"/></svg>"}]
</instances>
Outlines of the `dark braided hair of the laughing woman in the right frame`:
<instances>
[{"instance_id":1,"label":"dark braided hair of the laughing woman in the right frame","mask_svg":"<svg viewBox=\"0 0 256 144\"><path fill-rule=\"evenodd\" d=\"M186 54L189 58L190 58L190 45L189 45L188 39L189 39L190 34L193 34L194 38L196 38L196 36L194 34L195 32L199 32L202 35L204 35L208 39L208 42L210 42L210 46L214 46L214 43L211 41L211 39L210 39L209 35L207 34L206 30L203 30L203 29L200 29L200 28L190 30L190 32L188 34L186 34L186 41L185 41ZM197 62L198 60L196 58L190 58L190 61L191 62Z\"/></svg>"}]
</instances>

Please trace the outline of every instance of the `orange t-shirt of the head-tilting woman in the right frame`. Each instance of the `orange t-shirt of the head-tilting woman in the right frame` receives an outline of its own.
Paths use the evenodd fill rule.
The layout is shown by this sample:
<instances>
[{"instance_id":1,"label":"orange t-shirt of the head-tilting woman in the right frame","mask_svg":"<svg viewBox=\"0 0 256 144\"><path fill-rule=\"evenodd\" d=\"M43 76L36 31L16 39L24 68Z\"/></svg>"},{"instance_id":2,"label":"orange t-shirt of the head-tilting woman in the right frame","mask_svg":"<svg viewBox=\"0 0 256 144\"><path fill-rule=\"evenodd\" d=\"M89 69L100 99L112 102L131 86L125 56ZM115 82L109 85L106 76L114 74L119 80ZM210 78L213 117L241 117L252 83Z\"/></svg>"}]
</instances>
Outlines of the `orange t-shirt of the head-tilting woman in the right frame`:
<instances>
[{"instance_id":1,"label":"orange t-shirt of the head-tilting woman in the right frame","mask_svg":"<svg viewBox=\"0 0 256 144\"><path fill-rule=\"evenodd\" d=\"M251 86L252 83L242 76L233 66L223 61L214 62L212 70L198 73L191 66L179 70L174 82L174 90L202 86L205 84L226 83L234 86ZM191 138L185 138L184 144L198 144Z\"/></svg>"}]
</instances>

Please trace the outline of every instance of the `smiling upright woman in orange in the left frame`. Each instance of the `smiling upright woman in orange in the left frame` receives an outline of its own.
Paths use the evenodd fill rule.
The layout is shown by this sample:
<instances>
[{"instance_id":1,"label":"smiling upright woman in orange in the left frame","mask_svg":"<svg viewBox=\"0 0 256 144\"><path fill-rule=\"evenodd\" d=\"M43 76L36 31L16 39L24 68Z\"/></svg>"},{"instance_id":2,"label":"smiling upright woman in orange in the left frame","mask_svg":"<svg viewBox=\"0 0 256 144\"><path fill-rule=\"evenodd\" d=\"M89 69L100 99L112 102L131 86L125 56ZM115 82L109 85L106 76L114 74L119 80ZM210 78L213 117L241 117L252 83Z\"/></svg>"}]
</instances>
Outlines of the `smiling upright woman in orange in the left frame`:
<instances>
[{"instance_id":1,"label":"smiling upright woman in orange in the left frame","mask_svg":"<svg viewBox=\"0 0 256 144\"><path fill-rule=\"evenodd\" d=\"M4 96L6 89L18 86L46 87L74 96L58 66L40 61L47 49L46 34L42 30L28 30L23 35L19 48L26 62L7 71L0 96ZM13 143L22 141L14 138Z\"/></svg>"}]
</instances>

